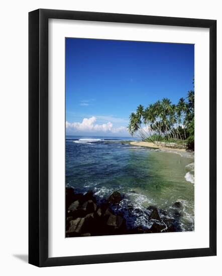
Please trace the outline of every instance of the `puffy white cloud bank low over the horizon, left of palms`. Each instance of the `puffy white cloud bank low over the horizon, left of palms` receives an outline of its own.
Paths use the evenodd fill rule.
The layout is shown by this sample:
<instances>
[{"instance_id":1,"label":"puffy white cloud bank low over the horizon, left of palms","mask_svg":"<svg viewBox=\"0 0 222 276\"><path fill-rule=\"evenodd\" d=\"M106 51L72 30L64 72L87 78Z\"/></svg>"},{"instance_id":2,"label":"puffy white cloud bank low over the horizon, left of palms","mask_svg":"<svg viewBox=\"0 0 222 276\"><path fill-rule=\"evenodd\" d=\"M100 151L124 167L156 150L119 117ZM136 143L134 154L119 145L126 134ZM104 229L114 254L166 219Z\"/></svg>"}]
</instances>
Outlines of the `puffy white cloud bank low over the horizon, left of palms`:
<instances>
[{"instance_id":1,"label":"puffy white cloud bank low over the horizon, left of palms","mask_svg":"<svg viewBox=\"0 0 222 276\"><path fill-rule=\"evenodd\" d=\"M114 127L112 122L96 124L96 117L84 118L82 122L68 122L66 121L66 129L71 131L88 131L88 132L109 132L109 133L125 133L127 128L125 126Z\"/></svg>"}]
</instances>

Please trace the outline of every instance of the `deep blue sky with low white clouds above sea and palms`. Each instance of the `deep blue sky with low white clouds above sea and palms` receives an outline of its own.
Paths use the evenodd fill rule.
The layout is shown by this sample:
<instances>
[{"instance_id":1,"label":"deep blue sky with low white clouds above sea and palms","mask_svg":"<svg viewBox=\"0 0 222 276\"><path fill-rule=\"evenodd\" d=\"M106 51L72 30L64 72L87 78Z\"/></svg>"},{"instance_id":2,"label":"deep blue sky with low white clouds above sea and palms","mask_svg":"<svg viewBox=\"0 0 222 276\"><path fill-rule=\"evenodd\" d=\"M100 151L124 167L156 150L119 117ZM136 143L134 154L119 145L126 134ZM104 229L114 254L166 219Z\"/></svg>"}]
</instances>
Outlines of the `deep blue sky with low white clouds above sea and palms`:
<instances>
[{"instance_id":1,"label":"deep blue sky with low white clouds above sea and palms","mask_svg":"<svg viewBox=\"0 0 222 276\"><path fill-rule=\"evenodd\" d=\"M193 88L194 45L66 38L66 134L126 136L139 104Z\"/></svg>"}]
</instances>

